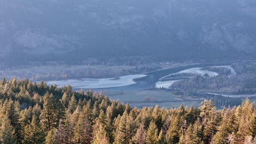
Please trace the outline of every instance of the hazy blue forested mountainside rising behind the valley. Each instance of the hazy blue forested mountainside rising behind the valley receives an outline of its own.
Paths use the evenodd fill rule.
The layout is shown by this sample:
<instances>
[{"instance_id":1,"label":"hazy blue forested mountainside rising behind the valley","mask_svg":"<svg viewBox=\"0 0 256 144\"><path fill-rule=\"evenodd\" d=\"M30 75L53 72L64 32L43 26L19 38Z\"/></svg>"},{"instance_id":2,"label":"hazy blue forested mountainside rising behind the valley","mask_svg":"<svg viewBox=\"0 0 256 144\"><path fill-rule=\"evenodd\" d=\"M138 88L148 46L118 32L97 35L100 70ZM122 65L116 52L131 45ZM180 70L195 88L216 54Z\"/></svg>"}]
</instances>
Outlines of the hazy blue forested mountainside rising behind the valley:
<instances>
[{"instance_id":1,"label":"hazy blue forested mountainside rising behind the valley","mask_svg":"<svg viewBox=\"0 0 256 144\"><path fill-rule=\"evenodd\" d=\"M256 1L0 1L1 65L255 56Z\"/></svg>"}]
</instances>

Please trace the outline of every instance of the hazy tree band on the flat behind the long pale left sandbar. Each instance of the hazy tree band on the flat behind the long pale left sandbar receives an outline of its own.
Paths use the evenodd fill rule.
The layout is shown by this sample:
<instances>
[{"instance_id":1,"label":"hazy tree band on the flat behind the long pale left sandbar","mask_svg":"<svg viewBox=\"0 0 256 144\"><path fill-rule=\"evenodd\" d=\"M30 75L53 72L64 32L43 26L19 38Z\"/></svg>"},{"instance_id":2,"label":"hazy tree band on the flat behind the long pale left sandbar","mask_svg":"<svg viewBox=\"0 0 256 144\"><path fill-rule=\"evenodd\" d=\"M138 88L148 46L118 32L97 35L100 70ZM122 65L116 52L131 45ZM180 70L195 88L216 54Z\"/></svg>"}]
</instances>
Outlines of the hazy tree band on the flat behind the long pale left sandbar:
<instances>
[{"instance_id":1,"label":"hazy tree band on the flat behind the long pale left sandbar","mask_svg":"<svg viewBox=\"0 0 256 144\"><path fill-rule=\"evenodd\" d=\"M161 67L158 64L148 64L148 65L136 65L135 67L123 68L119 67L109 67L109 68L97 68L95 67L84 67L82 65L80 68L73 68L72 65L70 68L54 67L51 65L51 69L46 68L45 70L30 69L30 67L24 67L20 69L6 69L0 71L0 79L5 77L6 79L11 79L12 77L18 77L23 79L26 77L31 81L49 81L49 80L66 80L66 79L84 79L84 78L93 78L93 79L104 79L110 77L119 77L124 75L132 74L142 74L148 71L159 70ZM101 66L100 66L101 67ZM125 67L125 66L124 66ZM41 68L42 69L42 68Z\"/></svg>"}]
</instances>

